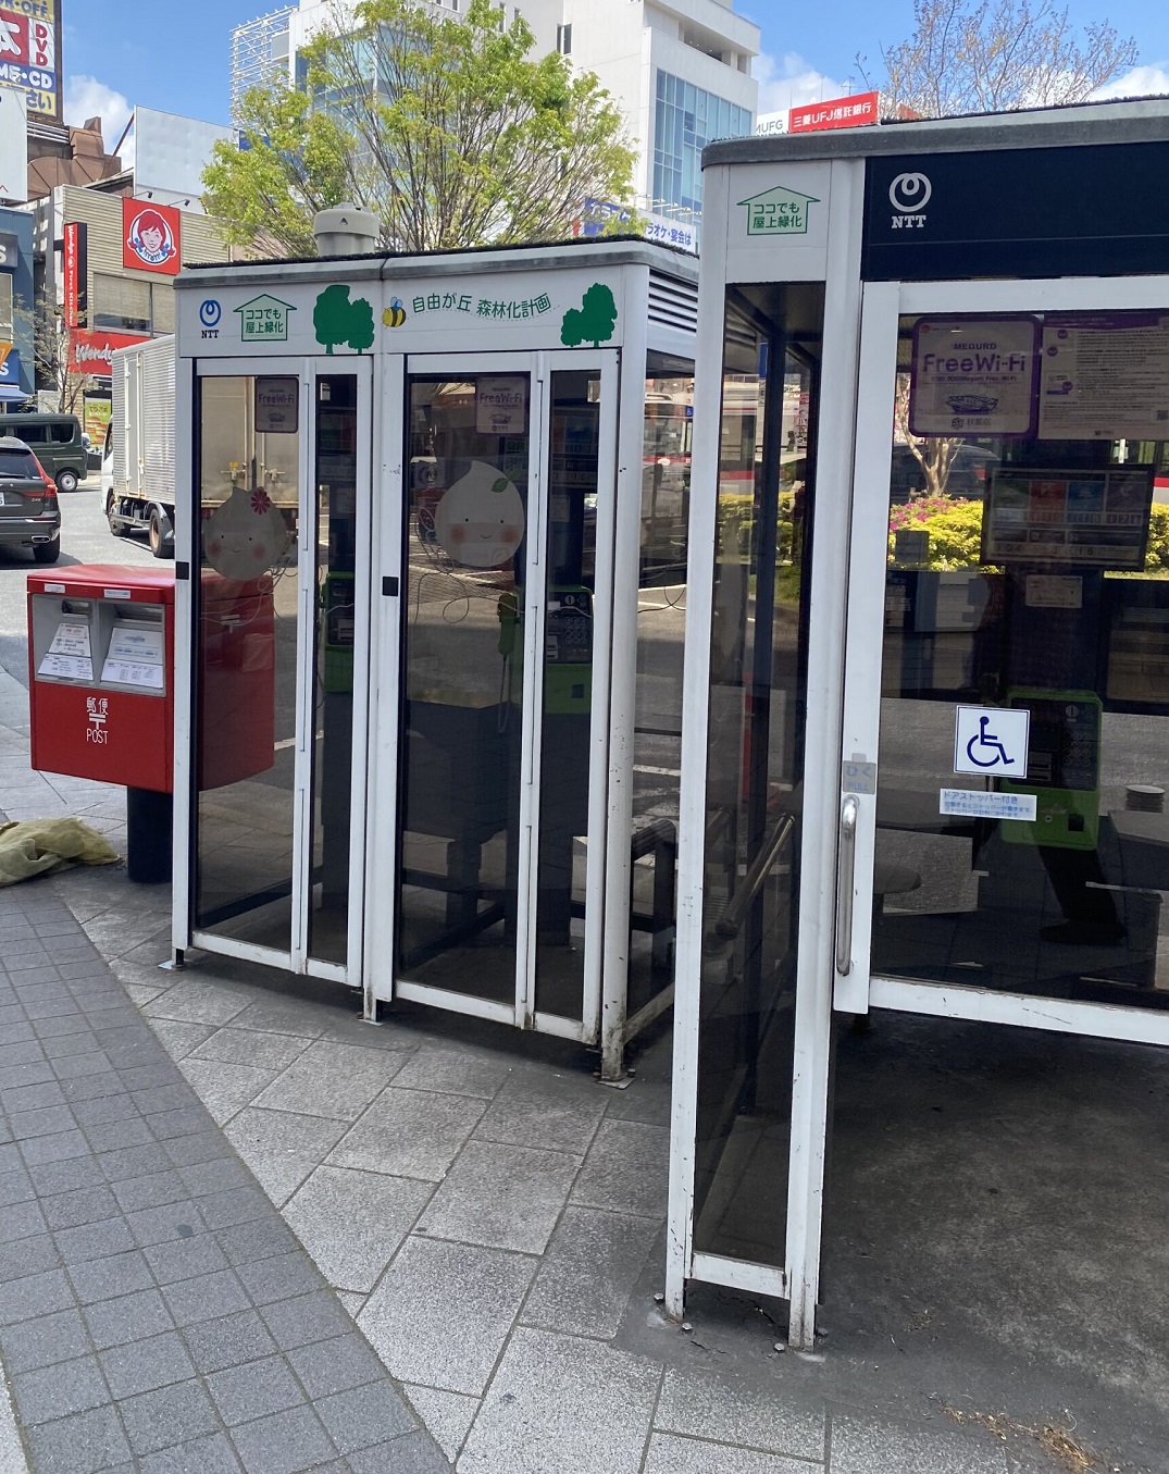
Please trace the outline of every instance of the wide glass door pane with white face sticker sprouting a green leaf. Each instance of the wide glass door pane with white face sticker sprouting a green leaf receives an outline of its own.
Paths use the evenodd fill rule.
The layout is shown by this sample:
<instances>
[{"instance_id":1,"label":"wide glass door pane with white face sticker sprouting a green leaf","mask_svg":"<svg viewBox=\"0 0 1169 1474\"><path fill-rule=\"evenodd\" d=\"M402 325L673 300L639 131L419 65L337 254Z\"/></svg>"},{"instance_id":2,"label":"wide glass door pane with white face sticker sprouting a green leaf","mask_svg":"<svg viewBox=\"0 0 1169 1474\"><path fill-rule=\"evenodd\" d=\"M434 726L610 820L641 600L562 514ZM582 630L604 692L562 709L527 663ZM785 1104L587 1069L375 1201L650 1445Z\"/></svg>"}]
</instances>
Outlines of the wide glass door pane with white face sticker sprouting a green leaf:
<instances>
[{"instance_id":1,"label":"wide glass door pane with white face sticker sprouting a green leaf","mask_svg":"<svg viewBox=\"0 0 1169 1474\"><path fill-rule=\"evenodd\" d=\"M526 374L411 379L398 976L516 989Z\"/></svg>"}]
</instances>

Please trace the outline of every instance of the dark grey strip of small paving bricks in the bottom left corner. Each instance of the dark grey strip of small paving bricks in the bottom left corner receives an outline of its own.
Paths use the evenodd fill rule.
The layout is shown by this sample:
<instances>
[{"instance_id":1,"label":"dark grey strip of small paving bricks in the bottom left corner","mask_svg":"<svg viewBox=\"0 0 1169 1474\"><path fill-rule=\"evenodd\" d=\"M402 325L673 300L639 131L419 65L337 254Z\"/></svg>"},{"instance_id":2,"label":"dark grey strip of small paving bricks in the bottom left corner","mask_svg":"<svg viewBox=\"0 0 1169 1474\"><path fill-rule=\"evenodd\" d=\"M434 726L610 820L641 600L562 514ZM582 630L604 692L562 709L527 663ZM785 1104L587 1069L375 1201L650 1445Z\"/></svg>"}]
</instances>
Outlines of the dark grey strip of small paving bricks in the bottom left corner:
<instances>
[{"instance_id":1,"label":"dark grey strip of small paving bricks in the bottom left corner","mask_svg":"<svg viewBox=\"0 0 1169 1474\"><path fill-rule=\"evenodd\" d=\"M0 1355L37 1474L448 1468L52 883L0 892Z\"/></svg>"}]
</instances>

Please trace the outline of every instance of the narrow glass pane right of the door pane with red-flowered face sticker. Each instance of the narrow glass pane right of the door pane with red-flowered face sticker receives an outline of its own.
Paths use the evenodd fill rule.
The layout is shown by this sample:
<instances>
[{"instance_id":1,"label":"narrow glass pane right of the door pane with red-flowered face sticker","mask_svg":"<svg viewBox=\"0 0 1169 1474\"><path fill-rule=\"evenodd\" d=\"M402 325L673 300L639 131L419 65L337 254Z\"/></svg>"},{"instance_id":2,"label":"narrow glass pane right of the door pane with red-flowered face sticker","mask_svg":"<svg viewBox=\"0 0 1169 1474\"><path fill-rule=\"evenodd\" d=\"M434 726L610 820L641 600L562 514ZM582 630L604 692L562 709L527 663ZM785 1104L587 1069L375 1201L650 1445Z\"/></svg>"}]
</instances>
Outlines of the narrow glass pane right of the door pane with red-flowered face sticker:
<instances>
[{"instance_id":1,"label":"narrow glass pane right of the door pane with red-flowered face sticker","mask_svg":"<svg viewBox=\"0 0 1169 1474\"><path fill-rule=\"evenodd\" d=\"M315 380L317 624L308 955L345 963L354 749L357 377Z\"/></svg>"}]
</instances>

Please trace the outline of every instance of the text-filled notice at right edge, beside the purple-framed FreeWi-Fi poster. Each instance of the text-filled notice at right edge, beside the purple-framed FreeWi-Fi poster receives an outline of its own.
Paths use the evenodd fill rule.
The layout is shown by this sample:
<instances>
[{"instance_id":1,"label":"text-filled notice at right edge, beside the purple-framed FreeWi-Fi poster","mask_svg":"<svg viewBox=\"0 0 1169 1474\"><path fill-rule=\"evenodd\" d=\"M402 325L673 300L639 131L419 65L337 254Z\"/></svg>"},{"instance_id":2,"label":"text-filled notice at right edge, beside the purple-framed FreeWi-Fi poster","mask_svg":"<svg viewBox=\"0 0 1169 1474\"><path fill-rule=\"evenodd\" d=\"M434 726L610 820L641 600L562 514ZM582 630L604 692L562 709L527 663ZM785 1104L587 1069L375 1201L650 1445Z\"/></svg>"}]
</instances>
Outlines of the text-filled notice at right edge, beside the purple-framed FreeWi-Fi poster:
<instances>
[{"instance_id":1,"label":"text-filled notice at right edge, beside the purple-framed FreeWi-Fi poster","mask_svg":"<svg viewBox=\"0 0 1169 1474\"><path fill-rule=\"evenodd\" d=\"M1166 438L1169 314L1048 317L1039 374L1039 439Z\"/></svg>"}]
</instances>

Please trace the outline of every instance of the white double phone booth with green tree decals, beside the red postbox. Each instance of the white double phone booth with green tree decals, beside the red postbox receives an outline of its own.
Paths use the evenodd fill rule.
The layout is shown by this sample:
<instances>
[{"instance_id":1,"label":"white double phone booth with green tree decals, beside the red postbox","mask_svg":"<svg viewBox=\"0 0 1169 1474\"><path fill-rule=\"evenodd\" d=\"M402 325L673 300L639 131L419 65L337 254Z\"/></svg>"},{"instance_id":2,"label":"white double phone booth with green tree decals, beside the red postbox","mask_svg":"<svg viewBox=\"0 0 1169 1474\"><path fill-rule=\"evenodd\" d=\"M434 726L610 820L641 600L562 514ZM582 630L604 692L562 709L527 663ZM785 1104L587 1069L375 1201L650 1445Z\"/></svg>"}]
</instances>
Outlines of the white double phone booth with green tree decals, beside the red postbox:
<instances>
[{"instance_id":1,"label":"white double phone booth with green tree decals, beside the red postbox","mask_svg":"<svg viewBox=\"0 0 1169 1474\"><path fill-rule=\"evenodd\" d=\"M618 1077L672 1001L696 262L604 240L177 289L177 958L579 1039Z\"/></svg>"}]
</instances>

